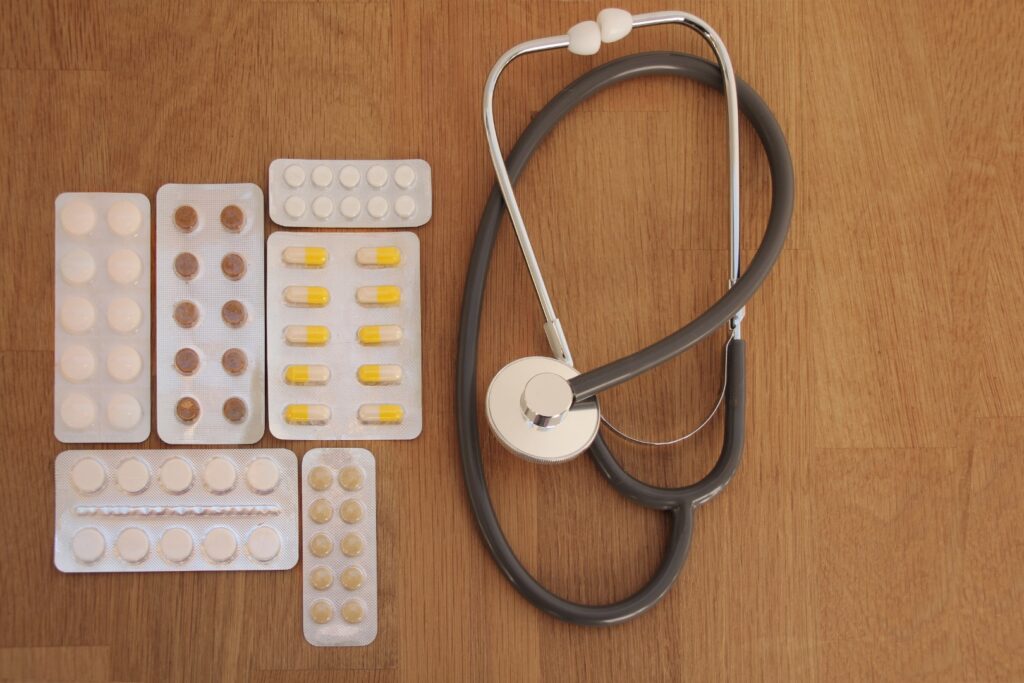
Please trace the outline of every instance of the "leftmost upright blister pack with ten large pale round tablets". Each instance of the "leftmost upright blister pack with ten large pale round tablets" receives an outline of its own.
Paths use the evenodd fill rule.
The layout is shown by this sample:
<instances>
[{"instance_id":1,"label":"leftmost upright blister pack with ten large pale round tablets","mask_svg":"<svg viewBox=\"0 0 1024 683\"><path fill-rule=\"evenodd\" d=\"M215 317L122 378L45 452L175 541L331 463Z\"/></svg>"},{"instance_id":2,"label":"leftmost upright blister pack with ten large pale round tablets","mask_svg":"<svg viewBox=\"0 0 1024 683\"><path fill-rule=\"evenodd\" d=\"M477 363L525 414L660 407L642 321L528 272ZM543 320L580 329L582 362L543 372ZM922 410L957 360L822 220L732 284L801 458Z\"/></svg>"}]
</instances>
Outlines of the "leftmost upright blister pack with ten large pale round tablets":
<instances>
[{"instance_id":1,"label":"leftmost upright blister pack with ten large pale round tablets","mask_svg":"<svg viewBox=\"0 0 1024 683\"><path fill-rule=\"evenodd\" d=\"M55 202L53 434L66 443L150 436L150 200Z\"/></svg>"}]
</instances>

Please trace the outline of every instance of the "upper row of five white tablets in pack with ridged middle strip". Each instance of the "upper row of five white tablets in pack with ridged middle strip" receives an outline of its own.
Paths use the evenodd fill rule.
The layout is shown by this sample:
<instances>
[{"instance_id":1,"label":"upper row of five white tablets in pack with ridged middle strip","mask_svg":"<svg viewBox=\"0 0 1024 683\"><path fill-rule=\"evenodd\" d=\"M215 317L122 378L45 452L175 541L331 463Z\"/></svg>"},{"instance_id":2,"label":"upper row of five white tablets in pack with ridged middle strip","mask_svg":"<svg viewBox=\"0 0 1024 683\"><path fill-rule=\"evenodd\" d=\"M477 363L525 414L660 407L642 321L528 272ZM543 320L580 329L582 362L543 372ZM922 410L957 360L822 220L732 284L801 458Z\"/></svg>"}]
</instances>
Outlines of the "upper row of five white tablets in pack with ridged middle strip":
<instances>
[{"instance_id":1,"label":"upper row of five white tablets in pack with ridged middle strip","mask_svg":"<svg viewBox=\"0 0 1024 683\"><path fill-rule=\"evenodd\" d=\"M82 458L71 469L72 485L81 494L97 494L106 485L106 468L95 458ZM157 479L168 494L184 494L193 487L193 466L177 456L168 458L157 472ZM138 458L118 464L114 481L126 494L141 494L150 487L150 466ZM238 480L238 468L227 458L211 458L203 467L203 485L212 494L227 494ZM281 470L269 458L257 458L246 466L246 483L255 494L272 493L281 481Z\"/></svg>"}]
</instances>

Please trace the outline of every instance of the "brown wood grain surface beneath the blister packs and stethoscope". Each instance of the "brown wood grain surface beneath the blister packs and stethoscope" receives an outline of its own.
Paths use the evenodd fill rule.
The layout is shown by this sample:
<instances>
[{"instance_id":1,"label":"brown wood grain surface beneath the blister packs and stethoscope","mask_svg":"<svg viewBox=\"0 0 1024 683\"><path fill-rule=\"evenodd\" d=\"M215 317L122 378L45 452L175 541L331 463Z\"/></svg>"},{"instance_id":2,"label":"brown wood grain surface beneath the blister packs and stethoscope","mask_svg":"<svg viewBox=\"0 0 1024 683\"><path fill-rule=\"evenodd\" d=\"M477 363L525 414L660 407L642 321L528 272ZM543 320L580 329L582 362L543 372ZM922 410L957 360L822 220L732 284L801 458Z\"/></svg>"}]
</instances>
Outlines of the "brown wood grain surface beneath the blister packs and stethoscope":
<instances>
[{"instance_id":1,"label":"brown wood grain surface beneath the blister packs and stethoscope","mask_svg":"<svg viewBox=\"0 0 1024 683\"><path fill-rule=\"evenodd\" d=\"M626 2L660 9L657 2ZM701 509L687 566L609 629L540 613L487 554L453 419L462 285L493 182L480 93L507 47L601 3L5 0L0 6L0 678L3 680L1024 680L1024 4L692 0L768 101L797 170L786 250L750 309L743 465ZM565 83L638 49L513 66L506 146ZM616 87L546 142L523 212L579 365L650 343L725 287L718 95ZM166 182L256 182L278 157L422 157L425 425L377 456L381 629L302 638L301 575L61 574L53 567L53 200ZM770 182L742 130L744 258ZM267 221L267 232L275 229ZM545 352L511 230L495 254L481 389ZM630 429L698 420L721 338L604 395ZM156 391L156 389L155 389ZM484 430L486 431L486 430ZM681 484L721 424L669 450L616 443ZM614 442L614 441L613 441ZM300 456L319 442L282 442ZM581 458L526 464L487 435L507 533L559 593L609 601L660 557L667 520ZM144 447L167 447L154 436Z\"/></svg>"}]
</instances>

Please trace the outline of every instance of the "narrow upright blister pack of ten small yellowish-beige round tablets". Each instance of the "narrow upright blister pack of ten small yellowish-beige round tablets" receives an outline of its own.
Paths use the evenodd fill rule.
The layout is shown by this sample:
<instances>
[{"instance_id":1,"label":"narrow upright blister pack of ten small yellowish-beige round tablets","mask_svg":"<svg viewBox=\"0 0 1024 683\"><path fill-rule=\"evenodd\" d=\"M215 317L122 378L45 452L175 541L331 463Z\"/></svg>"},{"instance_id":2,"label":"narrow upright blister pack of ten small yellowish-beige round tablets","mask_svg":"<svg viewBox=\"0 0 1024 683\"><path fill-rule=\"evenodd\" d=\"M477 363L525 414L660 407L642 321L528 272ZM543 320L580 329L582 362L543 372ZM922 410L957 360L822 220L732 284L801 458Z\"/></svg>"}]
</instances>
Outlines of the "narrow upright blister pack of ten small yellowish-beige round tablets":
<instances>
[{"instance_id":1,"label":"narrow upright blister pack of ten small yellowish-beige round tablets","mask_svg":"<svg viewBox=\"0 0 1024 683\"><path fill-rule=\"evenodd\" d=\"M377 637L377 465L365 449L302 458L302 633L312 645Z\"/></svg>"}]
</instances>

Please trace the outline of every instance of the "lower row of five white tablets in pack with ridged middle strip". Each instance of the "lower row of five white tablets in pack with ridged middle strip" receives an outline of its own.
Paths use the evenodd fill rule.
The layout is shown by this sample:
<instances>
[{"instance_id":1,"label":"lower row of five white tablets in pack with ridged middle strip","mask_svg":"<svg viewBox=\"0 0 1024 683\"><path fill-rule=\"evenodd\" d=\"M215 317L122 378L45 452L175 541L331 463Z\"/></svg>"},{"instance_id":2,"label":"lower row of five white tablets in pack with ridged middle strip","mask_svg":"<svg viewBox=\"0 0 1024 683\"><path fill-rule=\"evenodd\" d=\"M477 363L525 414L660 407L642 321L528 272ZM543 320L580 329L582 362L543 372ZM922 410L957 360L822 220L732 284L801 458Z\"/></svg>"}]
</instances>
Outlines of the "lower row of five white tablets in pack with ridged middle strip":
<instances>
[{"instance_id":1,"label":"lower row of five white tablets in pack with ridged middle strip","mask_svg":"<svg viewBox=\"0 0 1024 683\"><path fill-rule=\"evenodd\" d=\"M122 530L114 543L121 560L138 564L150 557L150 537L137 526ZM239 541L226 526L215 526L203 538L203 554L211 562L223 564L238 556ZM195 543L187 529L175 526L164 531L157 545L158 553L168 562L180 564L191 556ZM106 539L99 529L87 526L72 539L75 558L86 564L97 562L106 552ZM246 553L257 562L269 562L281 552L281 533L271 526L257 526L246 541Z\"/></svg>"}]
</instances>

